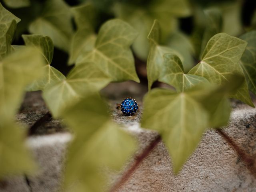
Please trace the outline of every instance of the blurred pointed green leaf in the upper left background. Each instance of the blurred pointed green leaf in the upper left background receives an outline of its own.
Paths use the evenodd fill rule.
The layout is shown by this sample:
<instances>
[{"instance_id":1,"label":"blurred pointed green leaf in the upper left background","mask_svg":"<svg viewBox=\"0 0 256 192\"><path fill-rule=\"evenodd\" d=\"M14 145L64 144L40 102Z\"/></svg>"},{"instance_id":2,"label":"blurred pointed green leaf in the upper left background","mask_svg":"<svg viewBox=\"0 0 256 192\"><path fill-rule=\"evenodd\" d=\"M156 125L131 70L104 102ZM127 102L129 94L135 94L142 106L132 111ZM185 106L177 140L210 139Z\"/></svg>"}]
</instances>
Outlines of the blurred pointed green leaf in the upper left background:
<instances>
[{"instance_id":1,"label":"blurred pointed green leaf in the upper left background","mask_svg":"<svg viewBox=\"0 0 256 192\"><path fill-rule=\"evenodd\" d=\"M49 36L54 45L68 52L72 35L70 7L63 0L46 0L42 16L28 28L32 34Z\"/></svg>"}]
</instances>

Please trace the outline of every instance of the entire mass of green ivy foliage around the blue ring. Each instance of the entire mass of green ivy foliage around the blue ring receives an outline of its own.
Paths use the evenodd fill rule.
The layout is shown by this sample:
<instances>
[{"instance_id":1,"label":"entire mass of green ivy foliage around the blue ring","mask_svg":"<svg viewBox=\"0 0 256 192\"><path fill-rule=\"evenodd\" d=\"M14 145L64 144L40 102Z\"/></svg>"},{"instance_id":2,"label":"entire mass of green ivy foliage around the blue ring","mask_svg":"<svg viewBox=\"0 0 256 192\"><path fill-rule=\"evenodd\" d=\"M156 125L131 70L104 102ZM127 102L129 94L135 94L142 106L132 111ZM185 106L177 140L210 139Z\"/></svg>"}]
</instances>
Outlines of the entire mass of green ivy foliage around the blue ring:
<instances>
[{"instance_id":1,"label":"entire mass of green ivy foliage around the blue ring","mask_svg":"<svg viewBox=\"0 0 256 192\"><path fill-rule=\"evenodd\" d=\"M106 177L100 170L120 170L136 149L134 138L112 122L99 92L110 82L140 82L135 59L147 68L142 127L159 132L176 174L204 131L228 124L228 98L254 106L249 90L256 94L255 16L244 33L239 2L215 8L202 7L199 0L3 4L16 16L0 4L0 178L36 167L24 147L25 133L14 122L25 90L42 90L54 118L74 133L65 191L101 190ZM25 45L12 45L14 36L20 42L27 32ZM58 49L74 64L66 76L54 67ZM175 90L151 90L156 81Z\"/></svg>"}]
</instances>

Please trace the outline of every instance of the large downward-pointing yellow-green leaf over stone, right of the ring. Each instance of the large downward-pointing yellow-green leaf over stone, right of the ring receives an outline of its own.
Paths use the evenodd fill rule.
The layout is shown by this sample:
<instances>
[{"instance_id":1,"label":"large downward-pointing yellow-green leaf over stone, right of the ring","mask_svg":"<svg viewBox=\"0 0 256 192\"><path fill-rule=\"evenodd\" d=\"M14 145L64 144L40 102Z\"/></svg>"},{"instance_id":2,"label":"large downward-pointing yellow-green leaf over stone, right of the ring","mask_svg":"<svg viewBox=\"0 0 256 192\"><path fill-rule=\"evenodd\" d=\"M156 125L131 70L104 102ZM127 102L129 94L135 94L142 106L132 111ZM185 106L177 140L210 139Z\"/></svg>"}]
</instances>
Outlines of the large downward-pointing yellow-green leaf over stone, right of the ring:
<instances>
[{"instance_id":1,"label":"large downward-pointing yellow-green leaf over stone, right of the ring","mask_svg":"<svg viewBox=\"0 0 256 192\"><path fill-rule=\"evenodd\" d=\"M156 88L144 98L142 127L160 133L176 174L198 145L208 119L207 111L189 93Z\"/></svg>"}]
</instances>

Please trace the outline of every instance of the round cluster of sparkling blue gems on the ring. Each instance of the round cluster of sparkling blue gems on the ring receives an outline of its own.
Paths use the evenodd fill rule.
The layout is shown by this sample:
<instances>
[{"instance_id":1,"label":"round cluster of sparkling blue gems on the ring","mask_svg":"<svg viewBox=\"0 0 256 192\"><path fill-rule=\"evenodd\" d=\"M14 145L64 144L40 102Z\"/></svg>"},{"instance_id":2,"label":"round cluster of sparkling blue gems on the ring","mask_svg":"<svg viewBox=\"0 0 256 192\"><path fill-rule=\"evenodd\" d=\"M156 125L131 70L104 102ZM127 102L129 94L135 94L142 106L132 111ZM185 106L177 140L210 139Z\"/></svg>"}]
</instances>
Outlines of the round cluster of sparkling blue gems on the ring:
<instances>
[{"instance_id":1,"label":"round cluster of sparkling blue gems on the ring","mask_svg":"<svg viewBox=\"0 0 256 192\"><path fill-rule=\"evenodd\" d=\"M121 103L121 111L125 116L133 116L138 108L138 103L132 98L124 99Z\"/></svg>"}]
</instances>

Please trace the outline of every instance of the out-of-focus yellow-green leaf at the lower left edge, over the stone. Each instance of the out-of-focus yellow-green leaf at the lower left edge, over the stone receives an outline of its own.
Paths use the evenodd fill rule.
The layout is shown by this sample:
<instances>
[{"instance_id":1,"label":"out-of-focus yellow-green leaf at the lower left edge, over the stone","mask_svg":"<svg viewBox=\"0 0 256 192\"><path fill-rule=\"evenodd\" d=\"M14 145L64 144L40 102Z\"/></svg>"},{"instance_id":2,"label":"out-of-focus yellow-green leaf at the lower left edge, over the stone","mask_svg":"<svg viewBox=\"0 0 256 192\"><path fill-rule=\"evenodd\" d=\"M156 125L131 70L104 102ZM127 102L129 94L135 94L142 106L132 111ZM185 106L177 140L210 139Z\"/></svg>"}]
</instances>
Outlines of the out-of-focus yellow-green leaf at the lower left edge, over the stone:
<instances>
[{"instance_id":1,"label":"out-of-focus yellow-green leaf at the lower left edge, over the stone","mask_svg":"<svg viewBox=\"0 0 256 192\"><path fill-rule=\"evenodd\" d=\"M29 174L36 165L25 148L22 128L0 117L0 179L7 175Z\"/></svg>"}]
</instances>

